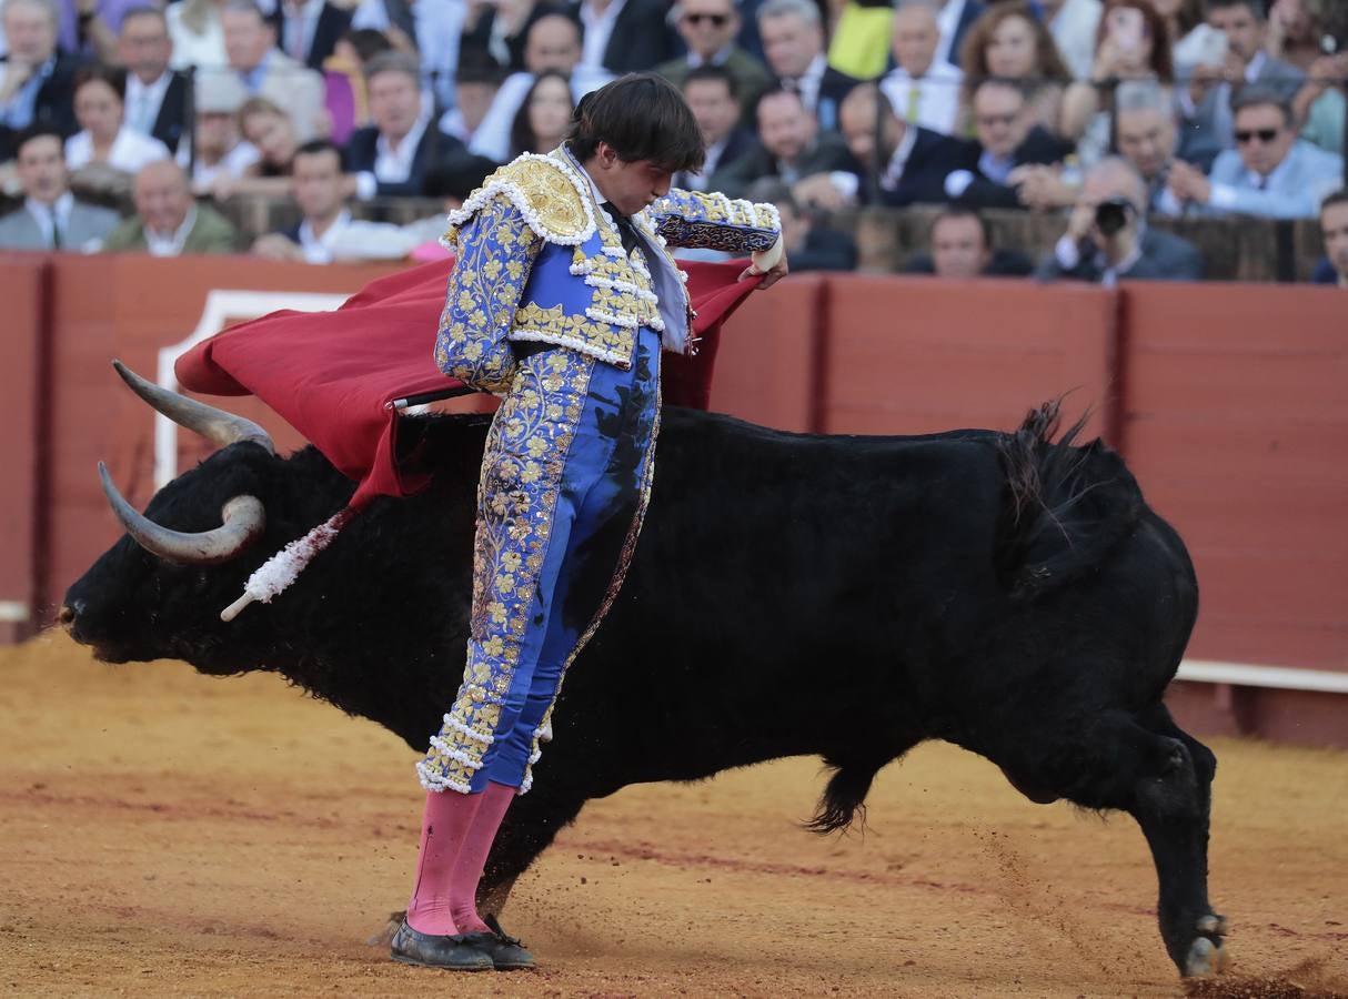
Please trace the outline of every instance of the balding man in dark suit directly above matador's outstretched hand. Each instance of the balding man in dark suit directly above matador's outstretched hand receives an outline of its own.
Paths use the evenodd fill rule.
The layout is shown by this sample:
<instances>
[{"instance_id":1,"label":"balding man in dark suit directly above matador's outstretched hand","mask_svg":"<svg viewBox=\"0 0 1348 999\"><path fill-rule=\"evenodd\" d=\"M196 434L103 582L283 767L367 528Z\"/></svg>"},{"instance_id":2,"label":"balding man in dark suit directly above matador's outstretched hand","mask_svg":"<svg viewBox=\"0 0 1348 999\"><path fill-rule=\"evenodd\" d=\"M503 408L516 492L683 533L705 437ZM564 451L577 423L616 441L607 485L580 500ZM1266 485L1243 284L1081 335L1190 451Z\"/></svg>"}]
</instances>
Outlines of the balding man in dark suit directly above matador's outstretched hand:
<instances>
[{"instance_id":1,"label":"balding man in dark suit directly above matador's outstretched hand","mask_svg":"<svg viewBox=\"0 0 1348 999\"><path fill-rule=\"evenodd\" d=\"M760 177L776 177L794 186L814 174L856 169L842 136L820 132L798 90L764 93L759 98L758 121L758 148L712 174L708 190L740 198Z\"/></svg>"}]
</instances>

